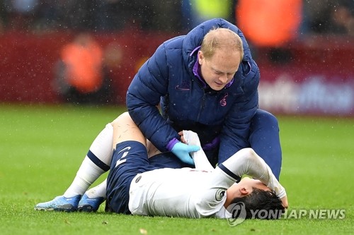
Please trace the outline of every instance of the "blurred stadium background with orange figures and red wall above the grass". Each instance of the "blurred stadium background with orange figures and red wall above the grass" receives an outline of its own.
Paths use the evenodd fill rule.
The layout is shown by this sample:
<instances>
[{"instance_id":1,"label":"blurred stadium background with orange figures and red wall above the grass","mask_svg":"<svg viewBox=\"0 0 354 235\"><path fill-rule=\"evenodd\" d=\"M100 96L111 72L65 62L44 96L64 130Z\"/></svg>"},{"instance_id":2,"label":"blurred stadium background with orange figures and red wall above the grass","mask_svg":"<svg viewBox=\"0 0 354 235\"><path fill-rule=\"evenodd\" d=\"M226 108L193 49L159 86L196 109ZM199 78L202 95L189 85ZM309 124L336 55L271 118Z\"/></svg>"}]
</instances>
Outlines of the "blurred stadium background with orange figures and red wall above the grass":
<instances>
[{"instance_id":1,"label":"blurred stadium background with orange figures and red wall above the grass","mask_svg":"<svg viewBox=\"0 0 354 235\"><path fill-rule=\"evenodd\" d=\"M159 44L219 17L249 42L261 108L354 116L353 0L1 0L0 102L124 105Z\"/></svg>"}]
</instances>

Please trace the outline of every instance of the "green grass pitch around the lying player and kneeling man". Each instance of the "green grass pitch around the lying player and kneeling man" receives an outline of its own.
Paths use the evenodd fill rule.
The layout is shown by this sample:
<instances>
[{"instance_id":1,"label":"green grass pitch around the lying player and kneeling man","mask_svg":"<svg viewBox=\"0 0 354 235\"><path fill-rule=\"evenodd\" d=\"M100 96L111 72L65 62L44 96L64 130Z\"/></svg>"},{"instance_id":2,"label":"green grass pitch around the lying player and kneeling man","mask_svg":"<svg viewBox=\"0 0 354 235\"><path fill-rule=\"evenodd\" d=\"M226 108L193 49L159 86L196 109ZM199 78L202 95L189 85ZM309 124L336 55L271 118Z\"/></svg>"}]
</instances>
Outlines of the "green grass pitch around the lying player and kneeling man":
<instances>
[{"instance_id":1,"label":"green grass pitch around the lying player and kneeling man","mask_svg":"<svg viewBox=\"0 0 354 235\"><path fill-rule=\"evenodd\" d=\"M61 195L93 138L122 107L0 105L0 234L353 234L354 119L278 116L280 181L290 210L345 210L344 219L248 220L38 212ZM105 176L105 175L103 175ZM103 177L99 181L103 180Z\"/></svg>"}]
</instances>

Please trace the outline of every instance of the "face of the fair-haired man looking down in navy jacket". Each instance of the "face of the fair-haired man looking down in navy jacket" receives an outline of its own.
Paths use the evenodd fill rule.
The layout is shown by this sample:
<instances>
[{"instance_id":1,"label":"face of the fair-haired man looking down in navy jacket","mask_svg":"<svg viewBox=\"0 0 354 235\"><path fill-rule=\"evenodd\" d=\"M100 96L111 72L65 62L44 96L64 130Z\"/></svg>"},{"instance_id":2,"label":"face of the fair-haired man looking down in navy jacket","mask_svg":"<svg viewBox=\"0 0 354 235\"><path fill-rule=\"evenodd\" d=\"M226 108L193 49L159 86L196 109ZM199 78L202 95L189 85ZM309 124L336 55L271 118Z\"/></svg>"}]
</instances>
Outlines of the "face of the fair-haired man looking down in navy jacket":
<instances>
[{"instance_id":1,"label":"face of the fair-haired man looking down in navy jacket","mask_svg":"<svg viewBox=\"0 0 354 235\"><path fill-rule=\"evenodd\" d=\"M232 50L217 49L208 59L201 51L198 52L200 73L212 90L222 90L234 78L240 60L241 54Z\"/></svg>"}]
</instances>

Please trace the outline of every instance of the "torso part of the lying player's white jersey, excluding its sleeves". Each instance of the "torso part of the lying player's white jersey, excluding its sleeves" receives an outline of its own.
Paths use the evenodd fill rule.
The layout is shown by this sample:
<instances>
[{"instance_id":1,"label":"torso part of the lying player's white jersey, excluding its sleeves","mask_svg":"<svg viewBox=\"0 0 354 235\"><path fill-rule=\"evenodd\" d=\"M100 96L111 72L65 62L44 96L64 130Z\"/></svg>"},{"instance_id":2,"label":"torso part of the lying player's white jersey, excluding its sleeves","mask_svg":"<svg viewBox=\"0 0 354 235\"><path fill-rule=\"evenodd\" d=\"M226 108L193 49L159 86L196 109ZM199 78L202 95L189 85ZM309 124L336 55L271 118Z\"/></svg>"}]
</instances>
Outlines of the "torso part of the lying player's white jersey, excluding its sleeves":
<instances>
[{"instance_id":1,"label":"torso part of the lying player's white jersey, excluding its sleeves","mask_svg":"<svg viewBox=\"0 0 354 235\"><path fill-rule=\"evenodd\" d=\"M233 182L218 181L212 171L191 168L137 174L130 184L129 210L133 215L229 217L224 202Z\"/></svg>"}]
</instances>

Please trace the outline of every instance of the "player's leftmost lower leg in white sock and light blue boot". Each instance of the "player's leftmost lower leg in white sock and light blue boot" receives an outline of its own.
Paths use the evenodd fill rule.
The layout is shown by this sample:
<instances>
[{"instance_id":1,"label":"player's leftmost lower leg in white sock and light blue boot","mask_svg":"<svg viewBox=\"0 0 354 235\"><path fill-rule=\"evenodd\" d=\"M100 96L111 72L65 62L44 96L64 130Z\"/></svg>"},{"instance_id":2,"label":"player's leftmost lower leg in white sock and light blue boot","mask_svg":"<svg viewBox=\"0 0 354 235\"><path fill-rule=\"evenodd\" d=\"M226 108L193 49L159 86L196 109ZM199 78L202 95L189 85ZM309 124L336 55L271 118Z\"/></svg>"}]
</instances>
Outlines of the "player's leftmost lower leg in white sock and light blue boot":
<instances>
[{"instance_id":1,"label":"player's leftmost lower leg in white sock and light blue boot","mask_svg":"<svg viewBox=\"0 0 354 235\"><path fill-rule=\"evenodd\" d=\"M108 171L112 159L113 126L108 123L93 140L89 152L82 162L72 184L63 195L55 199L35 205L35 210L56 210L71 212L77 210L81 195L98 179L101 174ZM95 205L100 205L104 198L96 198ZM93 200L90 201L93 203ZM98 206L96 206L98 208Z\"/></svg>"}]
</instances>

